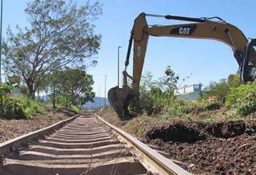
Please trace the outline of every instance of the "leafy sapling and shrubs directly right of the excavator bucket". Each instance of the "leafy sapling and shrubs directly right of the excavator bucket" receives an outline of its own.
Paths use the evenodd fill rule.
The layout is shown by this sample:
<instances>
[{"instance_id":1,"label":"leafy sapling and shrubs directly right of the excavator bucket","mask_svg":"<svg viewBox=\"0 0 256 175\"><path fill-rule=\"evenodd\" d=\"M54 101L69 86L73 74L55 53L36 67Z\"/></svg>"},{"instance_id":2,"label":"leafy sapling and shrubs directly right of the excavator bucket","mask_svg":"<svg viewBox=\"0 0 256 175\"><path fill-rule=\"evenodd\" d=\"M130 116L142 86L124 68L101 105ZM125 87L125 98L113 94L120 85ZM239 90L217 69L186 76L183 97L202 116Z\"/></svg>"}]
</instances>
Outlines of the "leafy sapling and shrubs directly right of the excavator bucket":
<instances>
[{"instance_id":1,"label":"leafy sapling and shrubs directly right of the excavator bucket","mask_svg":"<svg viewBox=\"0 0 256 175\"><path fill-rule=\"evenodd\" d=\"M174 100L174 91L177 89L179 79L174 70L168 66L164 71L164 77L159 81L153 81L152 78L151 72L142 75L139 93L132 98L129 105L132 113L145 112L151 115L156 111L161 111L161 108Z\"/></svg>"}]
</instances>

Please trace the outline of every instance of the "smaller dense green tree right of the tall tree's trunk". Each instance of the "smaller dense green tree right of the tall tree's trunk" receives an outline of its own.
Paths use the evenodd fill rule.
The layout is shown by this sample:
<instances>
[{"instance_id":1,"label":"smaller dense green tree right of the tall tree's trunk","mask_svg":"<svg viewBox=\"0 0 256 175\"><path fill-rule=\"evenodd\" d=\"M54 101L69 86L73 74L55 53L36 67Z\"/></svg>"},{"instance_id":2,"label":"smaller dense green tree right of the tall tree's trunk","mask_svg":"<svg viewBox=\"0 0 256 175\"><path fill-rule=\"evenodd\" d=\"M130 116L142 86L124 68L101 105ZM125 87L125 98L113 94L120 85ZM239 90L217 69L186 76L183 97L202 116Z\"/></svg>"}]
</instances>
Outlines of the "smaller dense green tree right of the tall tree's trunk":
<instances>
[{"instance_id":1,"label":"smaller dense green tree right of the tall tree's trunk","mask_svg":"<svg viewBox=\"0 0 256 175\"><path fill-rule=\"evenodd\" d=\"M54 72L48 77L46 88L51 93L53 108L56 99L64 106L84 105L87 101L93 101L95 93L92 92L92 75L86 74L82 69L70 69Z\"/></svg>"}]
</instances>

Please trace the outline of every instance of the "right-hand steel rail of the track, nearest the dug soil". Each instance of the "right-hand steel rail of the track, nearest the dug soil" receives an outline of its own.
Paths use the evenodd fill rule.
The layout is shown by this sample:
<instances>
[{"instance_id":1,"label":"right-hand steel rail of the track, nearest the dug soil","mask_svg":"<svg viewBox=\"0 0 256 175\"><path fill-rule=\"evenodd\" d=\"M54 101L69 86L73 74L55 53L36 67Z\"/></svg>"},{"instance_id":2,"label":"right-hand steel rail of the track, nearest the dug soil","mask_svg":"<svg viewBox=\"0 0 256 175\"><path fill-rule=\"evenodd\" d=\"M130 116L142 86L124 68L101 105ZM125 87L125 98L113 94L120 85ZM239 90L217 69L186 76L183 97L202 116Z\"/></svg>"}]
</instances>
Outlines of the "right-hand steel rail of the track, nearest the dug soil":
<instances>
[{"instance_id":1,"label":"right-hand steel rail of the track, nearest the dug soil","mask_svg":"<svg viewBox=\"0 0 256 175\"><path fill-rule=\"evenodd\" d=\"M124 142L126 141L128 145L130 145L135 149L137 157L140 158L140 160L142 161L142 164L146 166L146 169L150 170L154 167L152 170L153 171L156 170L160 174L175 174L175 175L190 174L185 169L182 169L180 166L174 164L174 162L171 162L170 159L167 159L166 157L162 156L158 152L154 151L154 149L151 149L144 143L137 140L136 137L133 137L132 135L129 135L127 132L124 132L123 130L108 123L107 121L102 119L99 115L97 114L95 115L100 121L102 121L102 123L105 123L105 125L111 128L115 133L117 133L120 140L123 140Z\"/></svg>"}]
</instances>

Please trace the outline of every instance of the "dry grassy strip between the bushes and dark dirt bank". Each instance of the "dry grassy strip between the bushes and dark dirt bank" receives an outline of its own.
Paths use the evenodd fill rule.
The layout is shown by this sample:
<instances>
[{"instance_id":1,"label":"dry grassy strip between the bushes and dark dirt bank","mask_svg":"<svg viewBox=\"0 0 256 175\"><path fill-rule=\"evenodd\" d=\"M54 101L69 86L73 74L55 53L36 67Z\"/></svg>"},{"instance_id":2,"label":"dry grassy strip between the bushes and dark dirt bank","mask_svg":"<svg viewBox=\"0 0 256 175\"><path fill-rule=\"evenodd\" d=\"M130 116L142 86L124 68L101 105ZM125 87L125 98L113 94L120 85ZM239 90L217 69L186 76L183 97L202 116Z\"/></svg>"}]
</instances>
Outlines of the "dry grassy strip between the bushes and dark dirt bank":
<instances>
[{"instance_id":1,"label":"dry grassy strip between the bushes and dark dirt bank","mask_svg":"<svg viewBox=\"0 0 256 175\"><path fill-rule=\"evenodd\" d=\"M184 115L161 114L149 116L142 114L131 120L121 120L117 117L112 108L105 108L97 113L112 125L122 128L126 132L137 137L142 137L148 128L168 125L174 120L184 120L196 123L221 123L226 120L250 120L256 116L256 113L252 113L251 115L242 117L238 113L235 113L235 111L230 111L225 106L222 106L218 110L191 111L191 113L186 113Z\"/></svg>"}]
</instances>

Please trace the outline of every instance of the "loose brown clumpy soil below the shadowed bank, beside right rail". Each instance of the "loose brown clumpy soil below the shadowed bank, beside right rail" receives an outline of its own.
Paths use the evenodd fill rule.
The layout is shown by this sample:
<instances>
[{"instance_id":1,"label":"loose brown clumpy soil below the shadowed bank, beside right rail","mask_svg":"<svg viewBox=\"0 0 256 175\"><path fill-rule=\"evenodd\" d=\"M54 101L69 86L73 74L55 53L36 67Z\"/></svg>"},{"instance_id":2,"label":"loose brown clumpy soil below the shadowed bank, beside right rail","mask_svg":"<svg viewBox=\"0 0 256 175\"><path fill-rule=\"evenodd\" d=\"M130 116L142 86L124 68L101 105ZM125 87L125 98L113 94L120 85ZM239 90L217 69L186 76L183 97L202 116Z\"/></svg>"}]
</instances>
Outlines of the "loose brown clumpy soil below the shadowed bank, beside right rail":
<instances>
[{"instance_id":1,"label":"loose brown clumpy soil below the shadowed bank, beside right rail","mask_svg":"<svg viewBox=\"0 0 256 175\"><path fill-rule=\"evenodd\" d=\"M149 144L186 164L185 169L193 174L256 174L256 135L210 138L193 144L151 140Z\"/></svg>"}]
</instances>

